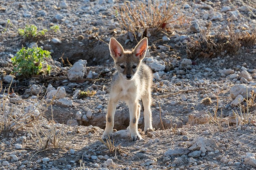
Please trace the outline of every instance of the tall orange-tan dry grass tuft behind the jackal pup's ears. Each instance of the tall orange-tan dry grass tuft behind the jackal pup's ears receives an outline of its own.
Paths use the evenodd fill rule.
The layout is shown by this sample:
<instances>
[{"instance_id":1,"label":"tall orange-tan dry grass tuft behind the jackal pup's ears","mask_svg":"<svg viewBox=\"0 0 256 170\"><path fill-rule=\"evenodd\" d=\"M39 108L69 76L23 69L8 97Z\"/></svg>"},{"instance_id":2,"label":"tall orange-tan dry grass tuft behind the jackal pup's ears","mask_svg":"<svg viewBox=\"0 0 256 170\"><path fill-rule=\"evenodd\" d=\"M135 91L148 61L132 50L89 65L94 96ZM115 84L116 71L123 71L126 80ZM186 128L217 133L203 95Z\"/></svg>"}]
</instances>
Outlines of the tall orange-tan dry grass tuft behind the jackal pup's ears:
<instances>
[{"instance_id":1,"label":"tall orange-tan dry grass tuft behind the jackal pup's ears","mask_svg":"<svg viewBox=\"0 0 256 170\"><path fill-rule=\"evenodd\" d=\"M125 1L124 5L114 9L121 27L133 34L135 38L136 34L143 38L166 29L170 23L181 21L185 16L180 12L182 5L183 1L176 0L163 3L158 0Z\"/></svg>"}]
</instances>

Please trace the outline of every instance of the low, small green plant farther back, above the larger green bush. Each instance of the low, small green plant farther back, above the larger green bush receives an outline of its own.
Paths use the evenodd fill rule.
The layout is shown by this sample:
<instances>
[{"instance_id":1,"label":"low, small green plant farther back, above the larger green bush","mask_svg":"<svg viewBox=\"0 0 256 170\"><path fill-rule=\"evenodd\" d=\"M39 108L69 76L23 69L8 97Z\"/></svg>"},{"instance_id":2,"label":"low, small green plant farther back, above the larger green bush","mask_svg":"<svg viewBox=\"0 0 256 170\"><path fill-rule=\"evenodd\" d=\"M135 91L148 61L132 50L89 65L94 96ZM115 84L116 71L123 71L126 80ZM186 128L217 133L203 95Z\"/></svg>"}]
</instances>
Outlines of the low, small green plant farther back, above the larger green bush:
<instances>
[{"instance_id":1,"label":"low, small green plant farther back, above the larger green bush","mask_svg":"<svg viewBox=\"0 0 256 170\"><path fill-rule=\"evenodd\" d=\"M43 37L46 33L57 32L58 30L59 30L59 26L57 25L50 27L50 30L43 29L40 31L35 25L31 25L31 26L26 25L25 29L18 29L18 33L20 36L26 39L39 39L40 37Z\"/></svg>"}]
</instances>

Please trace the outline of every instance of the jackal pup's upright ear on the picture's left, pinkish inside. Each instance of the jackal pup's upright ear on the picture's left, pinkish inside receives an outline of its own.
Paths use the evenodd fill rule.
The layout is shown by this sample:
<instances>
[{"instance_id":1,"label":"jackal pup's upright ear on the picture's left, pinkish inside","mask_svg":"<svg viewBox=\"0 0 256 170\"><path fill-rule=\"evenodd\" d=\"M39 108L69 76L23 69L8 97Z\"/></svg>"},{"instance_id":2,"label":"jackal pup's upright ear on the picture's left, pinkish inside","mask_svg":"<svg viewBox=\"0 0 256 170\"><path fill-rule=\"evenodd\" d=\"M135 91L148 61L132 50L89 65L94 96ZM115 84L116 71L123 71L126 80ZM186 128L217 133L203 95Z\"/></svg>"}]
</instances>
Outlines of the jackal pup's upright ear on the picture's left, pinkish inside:
<instances>
[{"instance_id":1,"label":"jackal pup's upright ear on the picture's left, pinkish inside","mask_svg":"<svg viewBox=\"0 0 256 170\"><path fill-rule=\"evenodd\" d=\"M124 49L115 38L111 38L109 41L109 50L111 57L116 60L118 57L124 54Z\"/></svg>"}]
</instances>

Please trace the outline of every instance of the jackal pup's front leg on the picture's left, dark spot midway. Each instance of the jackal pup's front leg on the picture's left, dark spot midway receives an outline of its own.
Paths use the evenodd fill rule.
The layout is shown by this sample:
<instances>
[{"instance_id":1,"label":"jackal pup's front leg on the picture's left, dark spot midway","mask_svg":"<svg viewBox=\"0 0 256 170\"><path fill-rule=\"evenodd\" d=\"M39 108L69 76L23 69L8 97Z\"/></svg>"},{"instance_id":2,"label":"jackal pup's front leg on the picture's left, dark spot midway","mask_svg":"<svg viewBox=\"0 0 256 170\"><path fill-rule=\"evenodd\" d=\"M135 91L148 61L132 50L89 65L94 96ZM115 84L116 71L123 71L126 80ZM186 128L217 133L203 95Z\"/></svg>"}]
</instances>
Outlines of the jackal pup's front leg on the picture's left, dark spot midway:
<instances>
[{"instance_id":1,"label":"jackal pup's front leg on the picture's left, dark spot midway","mask_svg":"<svg viewBox=\"0 0 256 170\"><path fill-rule=\"evenodd\" d=\"M114 116L116 111L117 102L112 99L109 100L108 113L106 115L106 128L102 135L102 139L105 140L113 133L114 128Z\"/></svg>"}]
</instances>

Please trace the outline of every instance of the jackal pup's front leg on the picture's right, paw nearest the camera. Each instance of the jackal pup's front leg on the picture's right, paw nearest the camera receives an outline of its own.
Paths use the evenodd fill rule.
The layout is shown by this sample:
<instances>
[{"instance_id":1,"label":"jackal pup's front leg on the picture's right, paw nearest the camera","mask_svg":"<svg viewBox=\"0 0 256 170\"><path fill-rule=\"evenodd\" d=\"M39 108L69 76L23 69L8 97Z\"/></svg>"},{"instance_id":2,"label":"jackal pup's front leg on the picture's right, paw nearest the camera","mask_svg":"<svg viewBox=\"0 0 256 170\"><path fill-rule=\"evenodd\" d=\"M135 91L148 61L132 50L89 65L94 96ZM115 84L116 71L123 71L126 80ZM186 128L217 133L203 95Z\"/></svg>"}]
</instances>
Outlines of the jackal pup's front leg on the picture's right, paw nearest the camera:
<instances>
[{"instance_id":1,"label":"jackal pup's front leg on the picture's right, paw nearest the camera","mask_svg":"<svg viewBox=\"0 0 256 170\"><path fill-rule=\"evenodd\" d=\"M139 115L140 115L140 110L139 110L139 103L138 101L132 101L129 102L128 107L129 107L129 112L130 112L130 133L131 133L131 139L132 141L136 141L141 139L141 136L138 132L138 120L139 120Z\"/></svg>"}]
</instances>

